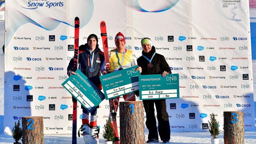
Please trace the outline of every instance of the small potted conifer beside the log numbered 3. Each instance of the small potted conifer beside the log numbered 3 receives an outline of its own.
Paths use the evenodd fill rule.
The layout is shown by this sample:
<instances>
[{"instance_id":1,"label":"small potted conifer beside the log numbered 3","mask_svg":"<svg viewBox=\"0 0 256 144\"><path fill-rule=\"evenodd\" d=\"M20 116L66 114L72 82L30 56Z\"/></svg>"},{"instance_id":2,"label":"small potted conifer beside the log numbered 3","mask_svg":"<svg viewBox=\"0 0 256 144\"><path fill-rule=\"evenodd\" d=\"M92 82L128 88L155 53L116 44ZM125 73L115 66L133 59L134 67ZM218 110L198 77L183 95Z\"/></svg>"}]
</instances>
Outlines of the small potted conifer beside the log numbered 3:
<instances>
[{"instance_id":1,"label":"small potted conifer beside the log numbered 3","mask_svg":"<svg viewBox=\"0 0 256 144\"><path fill-rule=\"evenodd\" d=\"M211 133L211 136L213 137L211 139L212 144L219 144L219 138L217 138L216 136L220 134L220 130L219 130L219 122L217 122L217 120L215 119L214 114L212 113L211 115L211 122L208 121L209 123L209 132Z\"/></svg>"}]
</instances>

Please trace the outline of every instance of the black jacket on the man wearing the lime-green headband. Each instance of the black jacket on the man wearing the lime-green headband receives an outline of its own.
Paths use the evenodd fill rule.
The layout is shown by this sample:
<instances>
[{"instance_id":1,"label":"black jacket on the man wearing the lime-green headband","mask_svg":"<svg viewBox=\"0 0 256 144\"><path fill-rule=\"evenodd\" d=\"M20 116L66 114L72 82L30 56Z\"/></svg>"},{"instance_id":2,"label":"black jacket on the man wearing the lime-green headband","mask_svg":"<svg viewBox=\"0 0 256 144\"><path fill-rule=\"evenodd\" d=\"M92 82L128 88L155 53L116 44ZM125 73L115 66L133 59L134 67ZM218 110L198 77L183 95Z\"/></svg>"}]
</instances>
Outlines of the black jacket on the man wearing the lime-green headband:
<instances>
[{"instance_id":1,"label":"black jacket on the man wearing the lime-green headband","mask_svg":"<svg viewBox=\"0 0 256 144\"><path fill-rule=\"evenodd\" d=\"M152 58L153 54L156 52L156 48L152 46L151 51L148 53L142 51L142 54L146 56L149 60ZM138 66L142 68L141 75L155 75L162 74L164 71L171 74L171 68L166 62L163 55L156 53L151 63L153 64L152 68L148 68L149 61L145 59L143 56L140 56L137 59Z\"/></svg>"}]
</instances>

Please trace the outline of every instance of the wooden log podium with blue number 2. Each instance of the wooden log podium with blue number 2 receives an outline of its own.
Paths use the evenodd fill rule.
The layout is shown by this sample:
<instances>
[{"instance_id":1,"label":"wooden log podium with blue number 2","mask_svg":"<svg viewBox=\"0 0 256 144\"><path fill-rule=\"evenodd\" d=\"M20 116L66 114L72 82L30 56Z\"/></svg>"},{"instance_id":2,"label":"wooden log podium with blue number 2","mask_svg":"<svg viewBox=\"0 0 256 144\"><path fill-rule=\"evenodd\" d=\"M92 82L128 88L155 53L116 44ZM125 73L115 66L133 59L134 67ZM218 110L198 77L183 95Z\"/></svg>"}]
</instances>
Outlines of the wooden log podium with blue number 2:
<instances>
[{"instance_id":1,"label":"wooden log podium with blue number 2","mask_svg":"<svg viewBox=\"0 0 256 144\"><path fill-rule=\"evenodd\" d=\"M42 116L22 117L22 144L44 144Z\"/></svg>"}]
</instances>

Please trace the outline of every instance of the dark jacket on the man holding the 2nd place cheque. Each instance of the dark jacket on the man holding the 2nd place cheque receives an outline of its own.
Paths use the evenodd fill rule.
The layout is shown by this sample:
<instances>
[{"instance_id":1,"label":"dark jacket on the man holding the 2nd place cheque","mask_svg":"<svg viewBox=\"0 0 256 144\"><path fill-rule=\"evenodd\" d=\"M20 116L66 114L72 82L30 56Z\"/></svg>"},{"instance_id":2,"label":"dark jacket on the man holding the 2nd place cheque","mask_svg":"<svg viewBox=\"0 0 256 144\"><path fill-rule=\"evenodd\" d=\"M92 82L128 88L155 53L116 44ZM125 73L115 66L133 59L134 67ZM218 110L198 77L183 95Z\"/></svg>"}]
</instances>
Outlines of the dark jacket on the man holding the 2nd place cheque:
<instances>
[{"instance_id":1,"label":"dark jacket on the man holding the 2nd place cheque","mask_svg":"<svg viewBox=\"0 0 256 144\"><path fill-rule=\"evenodd\" d=\"M95 86L99 87L100 82L100 68L104 61L104 53L100 51L99 45L96 45L96 48L94 50L94 58L93 58L93 68L94 72L89 72L89 69L91 68L91 61L90 61L90 55L91 53L87 49L88 44L80 45L78 48L78 64L79 64L79 70L88 77ZM74 69L74 58L69 61L67 70Z\"/></svg>"}]
</instances>

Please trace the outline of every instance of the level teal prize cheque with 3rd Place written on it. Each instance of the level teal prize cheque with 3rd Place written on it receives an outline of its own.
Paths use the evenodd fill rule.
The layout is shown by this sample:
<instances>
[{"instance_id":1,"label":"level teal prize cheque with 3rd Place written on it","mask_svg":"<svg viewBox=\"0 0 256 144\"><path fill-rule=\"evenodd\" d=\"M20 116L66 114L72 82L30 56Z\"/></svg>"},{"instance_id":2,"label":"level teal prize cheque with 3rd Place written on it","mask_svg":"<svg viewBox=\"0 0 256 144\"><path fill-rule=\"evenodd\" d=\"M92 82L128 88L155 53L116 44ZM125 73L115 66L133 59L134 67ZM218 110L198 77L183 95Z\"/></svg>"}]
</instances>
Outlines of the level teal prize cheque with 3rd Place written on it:
<instances>
[{"instance_id":1,"label":"level teal prize cheque with 3rd Place written on it","mask_svg":"<svg viewBox=\"0 0 256 144\"><path fill-rule=\"evenodd\" d=\"M139 76L140 100L180 98L179 74Z\"/></svg>"}]
</instances>

